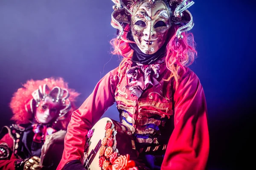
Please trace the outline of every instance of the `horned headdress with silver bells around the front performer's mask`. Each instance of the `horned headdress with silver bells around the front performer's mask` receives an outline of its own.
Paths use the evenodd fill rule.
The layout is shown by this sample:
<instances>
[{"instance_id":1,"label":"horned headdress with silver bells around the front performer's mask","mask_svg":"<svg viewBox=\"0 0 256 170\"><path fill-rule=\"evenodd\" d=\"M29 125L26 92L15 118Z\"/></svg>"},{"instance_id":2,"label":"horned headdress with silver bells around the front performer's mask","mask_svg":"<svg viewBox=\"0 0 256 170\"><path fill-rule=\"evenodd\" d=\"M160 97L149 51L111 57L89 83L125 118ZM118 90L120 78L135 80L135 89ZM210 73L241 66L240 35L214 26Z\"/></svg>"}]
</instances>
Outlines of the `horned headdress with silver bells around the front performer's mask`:
<instances>
[{"instance_id":1,"label":"horned headdress with silver bells around the front performer's mask","mask_svg":"<svg viewBox=\"0 0 256 170\"><path fill-rule=\"evenodd\" d=\"M132 15L136 13L141 4L148 2L154 4L162 2L166 4L171 15L171 24L179 25L180 28L176 31L176 37L182 39L182 32L189 31L193 28L192 14L187 10L194 4L192 0L112 0L115 5L113 6L113 13L111 16L111 25L118 29L119 37L124 33L124 27L131 24Z\"/></svg>"}]
</instances>

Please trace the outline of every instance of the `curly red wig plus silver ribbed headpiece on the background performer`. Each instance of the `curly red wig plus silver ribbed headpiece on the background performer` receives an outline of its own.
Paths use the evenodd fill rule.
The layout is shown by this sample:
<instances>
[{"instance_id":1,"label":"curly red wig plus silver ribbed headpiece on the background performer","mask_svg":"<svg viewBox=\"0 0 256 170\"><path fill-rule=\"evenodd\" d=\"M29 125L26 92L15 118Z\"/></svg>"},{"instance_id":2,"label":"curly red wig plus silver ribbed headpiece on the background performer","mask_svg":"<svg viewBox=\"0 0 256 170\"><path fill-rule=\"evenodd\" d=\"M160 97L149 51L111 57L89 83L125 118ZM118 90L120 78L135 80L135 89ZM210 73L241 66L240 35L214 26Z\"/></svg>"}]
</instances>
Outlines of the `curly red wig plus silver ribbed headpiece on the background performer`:
<instances>
[{"instance_id":1,"label":"curly red wig plus silver ribbed headpiece on the background performer","mask_svg":"<svg viewBox=\"0 0 256 170\"><path fill-rule=\"evenodd\" d=\"M45 97L53 102L59 102L62 109L59 111L55 124L61 129L67 127L71 113L76 109L74 102L79 94L68 88L67 82L62 78L48 78L43 80L29 80L23 88L19 88L12 97L10 108L17 124L26 124L34 118L35 108ZM68 118L68 119L66 119Z\"/></svg>"}]
</instances>

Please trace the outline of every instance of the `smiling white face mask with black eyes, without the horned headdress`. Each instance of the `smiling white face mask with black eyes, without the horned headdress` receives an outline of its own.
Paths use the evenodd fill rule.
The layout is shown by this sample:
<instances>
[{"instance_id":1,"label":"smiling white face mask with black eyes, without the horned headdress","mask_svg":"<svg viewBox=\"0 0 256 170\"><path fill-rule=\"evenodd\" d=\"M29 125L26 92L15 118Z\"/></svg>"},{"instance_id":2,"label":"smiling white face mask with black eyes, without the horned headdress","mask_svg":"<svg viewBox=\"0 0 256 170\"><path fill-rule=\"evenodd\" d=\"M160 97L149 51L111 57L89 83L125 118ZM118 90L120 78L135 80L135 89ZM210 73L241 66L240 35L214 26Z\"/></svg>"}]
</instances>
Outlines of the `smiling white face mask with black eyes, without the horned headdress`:
<instances>
[{"instance_id":1,"label":"smiling white face mask with black eyes, without the horned headdress","mask_svg":"<svg viewBox=\"0 0 256 170\"><path fill-rule=\"evenodd\" d=\"M154 54L166 41L170 13L165 3L143 3L132 15L131 32L144 54Z\"/></svg>"}]
</instances>

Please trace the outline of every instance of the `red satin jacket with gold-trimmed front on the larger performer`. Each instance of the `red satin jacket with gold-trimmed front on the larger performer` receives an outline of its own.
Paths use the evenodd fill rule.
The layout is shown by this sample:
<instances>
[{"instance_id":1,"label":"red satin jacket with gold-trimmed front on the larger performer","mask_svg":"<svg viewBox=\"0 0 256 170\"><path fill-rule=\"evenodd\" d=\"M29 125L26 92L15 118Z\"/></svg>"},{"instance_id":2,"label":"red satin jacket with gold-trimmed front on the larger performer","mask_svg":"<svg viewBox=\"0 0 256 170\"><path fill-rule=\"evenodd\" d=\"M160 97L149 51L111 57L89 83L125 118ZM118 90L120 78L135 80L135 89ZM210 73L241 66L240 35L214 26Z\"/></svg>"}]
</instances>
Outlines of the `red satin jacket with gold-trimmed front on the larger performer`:
<instances>
[{"instance_id":1,"label":"red satin jacket with gold-trimmed front on the larger performer","mask_svg":"<svg viewBox=\"0 0 256 170\"><path fill-rule=\"evenodd\" d=\"M178 85L174 79L165 81L170 74L165 62L134 65L130 60L125 69L106 74L73 112L57 170L69 161L81 161L88 130L115 102L140 152L165 152L161 169L204 170L209 133L203 87L189 68L179 71Z\"/></svg>"}]
</instances>

